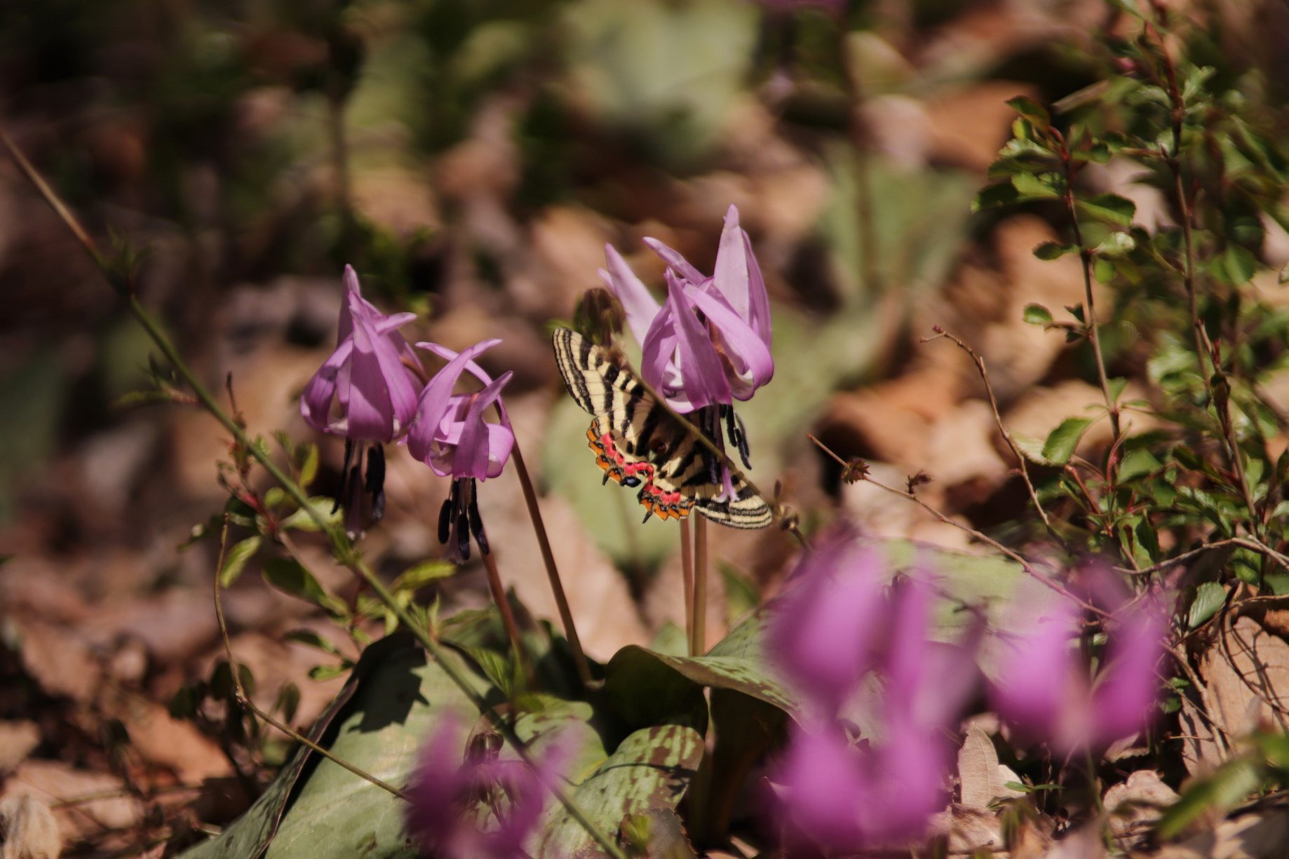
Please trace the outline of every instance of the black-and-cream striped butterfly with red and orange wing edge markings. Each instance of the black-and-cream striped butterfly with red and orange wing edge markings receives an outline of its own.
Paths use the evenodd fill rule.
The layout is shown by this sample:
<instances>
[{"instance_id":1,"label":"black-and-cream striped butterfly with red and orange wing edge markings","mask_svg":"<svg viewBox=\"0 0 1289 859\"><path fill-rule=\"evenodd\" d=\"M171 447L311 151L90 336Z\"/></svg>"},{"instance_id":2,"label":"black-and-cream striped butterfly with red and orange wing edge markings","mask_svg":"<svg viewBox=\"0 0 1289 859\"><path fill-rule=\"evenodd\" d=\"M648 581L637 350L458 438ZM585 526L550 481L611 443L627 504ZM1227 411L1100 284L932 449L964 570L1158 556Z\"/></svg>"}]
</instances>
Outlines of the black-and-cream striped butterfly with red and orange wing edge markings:
<instances>
[{"instance_id":1,"label":"black-and-cream striped butterfly with red and orange wing edge markings","mask_svg":"<svg viewBox=\"0 0 1289 859\"><path fill-rule=\"evenodd\" d=\"M567 328L554 331L556 362L565 387L593 418L586 440L596 462L637 498L650 516L684 518L691 509L730 528L764 528L773 511L742 477L731 473L733 497L722 495L721 458L701 444L608 350Z\"/></svg>"}]
</instances>

